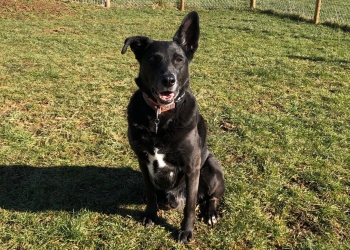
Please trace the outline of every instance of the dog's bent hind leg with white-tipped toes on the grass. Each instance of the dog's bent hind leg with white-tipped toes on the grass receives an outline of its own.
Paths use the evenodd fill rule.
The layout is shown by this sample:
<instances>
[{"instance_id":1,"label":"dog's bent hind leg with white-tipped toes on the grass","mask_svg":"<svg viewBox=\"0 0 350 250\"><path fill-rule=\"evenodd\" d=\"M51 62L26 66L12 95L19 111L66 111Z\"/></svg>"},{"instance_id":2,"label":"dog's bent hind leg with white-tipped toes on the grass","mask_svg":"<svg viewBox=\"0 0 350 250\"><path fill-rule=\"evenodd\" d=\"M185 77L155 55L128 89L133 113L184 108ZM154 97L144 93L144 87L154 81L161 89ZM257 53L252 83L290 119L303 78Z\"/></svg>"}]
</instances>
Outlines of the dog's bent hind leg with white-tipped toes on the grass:
<instances>
[{"instance_id":1,"label":"dog's bent hind leg with white-tipped toes on the grass","mask_svg":"<svg viewBox=\"0 0 350 250\"><path fill-rule=\"evenodd\" d=\"M201 215L205 222L211 226L219 219L216 207L219 198L225 191L224 182L221 167L215 156L210 153L201 169L198 198Z\"/></svg>"}]
</instances>

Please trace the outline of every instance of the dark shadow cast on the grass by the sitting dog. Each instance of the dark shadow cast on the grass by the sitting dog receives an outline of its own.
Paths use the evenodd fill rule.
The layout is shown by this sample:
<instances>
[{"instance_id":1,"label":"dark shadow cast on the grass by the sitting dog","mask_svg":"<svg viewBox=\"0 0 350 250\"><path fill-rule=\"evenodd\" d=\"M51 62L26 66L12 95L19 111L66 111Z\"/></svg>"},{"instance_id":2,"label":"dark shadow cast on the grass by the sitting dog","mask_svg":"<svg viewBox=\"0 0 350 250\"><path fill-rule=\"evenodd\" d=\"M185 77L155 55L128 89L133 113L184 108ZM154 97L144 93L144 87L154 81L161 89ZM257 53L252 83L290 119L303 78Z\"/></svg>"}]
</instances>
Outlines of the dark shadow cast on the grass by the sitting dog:
<instances>
[{"instance_id":1,"label":"dark shadow cast on the grass by the sitting dog","mask_svg":"<svg viewBox=\"0 0 350 250\"><path fill-rule=\"evenodd\" d=\"M145 204L140 171L131 167L0 165L0 207L13 211L89 211L141 221ZM166 230L176 228L158 221Z\"/></svg>"}]
</instances>

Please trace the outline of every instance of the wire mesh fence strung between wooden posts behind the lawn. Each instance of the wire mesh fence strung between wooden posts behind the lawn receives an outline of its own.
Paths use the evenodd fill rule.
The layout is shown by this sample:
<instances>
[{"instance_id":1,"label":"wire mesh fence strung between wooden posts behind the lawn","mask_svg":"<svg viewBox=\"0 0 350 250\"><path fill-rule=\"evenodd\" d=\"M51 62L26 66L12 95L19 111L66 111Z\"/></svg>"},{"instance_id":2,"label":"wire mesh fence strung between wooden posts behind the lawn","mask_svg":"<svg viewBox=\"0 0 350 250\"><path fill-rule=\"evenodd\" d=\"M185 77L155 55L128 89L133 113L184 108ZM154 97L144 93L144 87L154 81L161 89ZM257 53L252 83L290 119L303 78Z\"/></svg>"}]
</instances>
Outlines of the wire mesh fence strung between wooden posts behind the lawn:
<instances>
[{"instance_id":1,"label":"wire mesh fence strung between wooden posts behind the lawn","mask_svg":"<svg viewBox=\"0 0 350 250\"><path fill-rule=\"evenodd\" d=\"M71 0L105 5L106 0ZM179 7L180 0L110 0L112 6ZM256 0L256 8L313 19L316 0ZM244 9L250 0L185 0L185 9ZM350 0L323 0L320 22L350 25Z\"/></svg>"}]
</instances>

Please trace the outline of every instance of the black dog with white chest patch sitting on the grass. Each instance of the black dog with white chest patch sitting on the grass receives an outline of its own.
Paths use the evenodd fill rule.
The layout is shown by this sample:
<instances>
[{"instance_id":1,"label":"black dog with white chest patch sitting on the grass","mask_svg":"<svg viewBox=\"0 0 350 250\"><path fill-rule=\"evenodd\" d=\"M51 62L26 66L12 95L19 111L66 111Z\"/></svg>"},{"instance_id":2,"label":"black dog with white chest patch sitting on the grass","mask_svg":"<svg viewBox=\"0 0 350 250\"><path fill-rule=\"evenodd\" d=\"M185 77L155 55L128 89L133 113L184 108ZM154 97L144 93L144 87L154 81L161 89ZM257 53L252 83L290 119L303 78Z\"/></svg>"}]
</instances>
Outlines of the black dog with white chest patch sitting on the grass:
<instances>
[{"instance_id":1,"label":"black dog with white chest patch sitting on the grass","mask_svg":"<svg viewBox=\"0 0 350 250\"><path fill-rule=\"evenodd\" d=\"M198 48L199 17L189 13L173 41L129 37L128 48L140 63L139 90L128 106L128 137L137 155L146 187L143 223L157 219L157 190L164 190L171 207L185 205L178 233L180 242L193 237L195 207L210 225L216 223L216 204L224 193L224 176L207 149L206 127L189 89L189 63Z\"/></svg>"}]
</instances>

